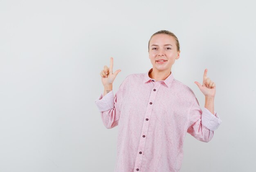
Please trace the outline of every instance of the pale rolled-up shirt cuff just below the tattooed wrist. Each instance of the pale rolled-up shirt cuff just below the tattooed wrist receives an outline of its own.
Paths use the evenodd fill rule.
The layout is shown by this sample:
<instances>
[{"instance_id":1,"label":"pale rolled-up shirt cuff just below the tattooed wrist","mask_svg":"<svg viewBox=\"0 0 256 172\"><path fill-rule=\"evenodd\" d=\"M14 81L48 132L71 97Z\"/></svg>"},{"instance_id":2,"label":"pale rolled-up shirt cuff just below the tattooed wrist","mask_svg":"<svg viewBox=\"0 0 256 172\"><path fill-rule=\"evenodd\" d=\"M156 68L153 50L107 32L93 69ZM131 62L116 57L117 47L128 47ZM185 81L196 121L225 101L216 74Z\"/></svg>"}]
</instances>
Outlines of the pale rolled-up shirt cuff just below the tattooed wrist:
<instances>
[{"instance_id":1,"label":"pale rolled-up shirt cuff just below the tattooed wrist","mask_svg":"<svg viewBox=\"0 0 256 172\"><path fill-rule=\"evenodd\" d=\"M95 104L97 105L99 112L104 112L114 108L114 93L111 90L104 97L101 94L100 97L95 100Z\"/></svg>"}]
</instances>

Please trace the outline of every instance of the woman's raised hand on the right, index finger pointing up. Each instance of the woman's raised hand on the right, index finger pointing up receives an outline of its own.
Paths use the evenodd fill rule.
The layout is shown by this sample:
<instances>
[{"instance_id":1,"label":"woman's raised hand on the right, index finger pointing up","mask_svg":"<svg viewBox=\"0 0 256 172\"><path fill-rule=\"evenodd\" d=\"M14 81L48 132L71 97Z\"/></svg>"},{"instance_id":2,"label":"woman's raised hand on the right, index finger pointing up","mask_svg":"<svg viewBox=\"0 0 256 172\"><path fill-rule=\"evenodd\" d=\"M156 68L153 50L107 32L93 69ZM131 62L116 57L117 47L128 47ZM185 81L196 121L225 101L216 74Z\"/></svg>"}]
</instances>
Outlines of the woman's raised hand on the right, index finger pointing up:
<instances>
[{"instance_id":1,"label":"woman's raised hand on the right, index finger pointing up","mask_svg":"<svg viewBox=\"0 0 256 172\"><path fill-rule=\"evenodd\" d=\"M199 82L194 82L198 88L202 91L205 97L215 97L216 93L216 85L209 77L207 77L207 69L204 69L204 78L203 84L201 85Z\"/></svg>"}]
</instances>

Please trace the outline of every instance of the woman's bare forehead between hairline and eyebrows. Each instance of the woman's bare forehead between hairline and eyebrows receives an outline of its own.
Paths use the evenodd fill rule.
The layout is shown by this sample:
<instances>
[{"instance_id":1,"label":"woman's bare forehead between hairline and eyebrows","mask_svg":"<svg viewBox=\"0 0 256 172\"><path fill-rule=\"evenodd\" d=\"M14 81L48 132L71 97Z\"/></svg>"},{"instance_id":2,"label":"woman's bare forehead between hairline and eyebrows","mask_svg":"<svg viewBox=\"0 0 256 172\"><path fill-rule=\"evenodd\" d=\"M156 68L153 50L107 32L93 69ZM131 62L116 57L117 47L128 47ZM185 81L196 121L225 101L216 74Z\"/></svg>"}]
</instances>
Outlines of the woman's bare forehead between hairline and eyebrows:
<instances>
[{"instance_id":1,"label":"woman's bare forehead between hairline and eyebrows","mask_svg":"<svg viewBox=\"0 0 256 172\"><path fill-rule=\"evenodd\" d=\"M164 44L175 44L175 39L171 35L166 35L166 34L157 34L154 35L151 40L150 40L150 45L151 44L157 44L157 45L164 45Z\"/></svg>"}]
</instances>

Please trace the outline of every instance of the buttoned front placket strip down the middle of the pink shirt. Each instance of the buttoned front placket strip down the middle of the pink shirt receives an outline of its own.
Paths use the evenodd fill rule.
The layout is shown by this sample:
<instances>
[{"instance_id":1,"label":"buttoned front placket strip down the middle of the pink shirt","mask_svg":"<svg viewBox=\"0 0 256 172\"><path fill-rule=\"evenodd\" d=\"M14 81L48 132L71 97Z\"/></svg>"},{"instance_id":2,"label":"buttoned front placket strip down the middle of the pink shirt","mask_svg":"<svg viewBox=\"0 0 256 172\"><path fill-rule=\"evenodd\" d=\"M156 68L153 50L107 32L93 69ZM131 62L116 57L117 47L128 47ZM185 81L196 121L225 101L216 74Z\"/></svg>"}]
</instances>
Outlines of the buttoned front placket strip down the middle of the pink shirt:
<instances>
[{"instance_id":1,"label":"buttoned front placket strip down the middle of the pink shirt","mask_svg":"<svg viewBox=\"0 0 256 172\"><path fill-rule=\"evenodd\" d=\"M152 80L152 82L154 82ZM152 114L152 109L153 109L153 102L155 101L155 97L157 95L157 91L159 90L159 87L161 86L160 82L155 82L154 87L156 89L152 89L151 93L150 93L150 97L149 97L149 104L147 106L146 109L146 114L144 116L144 122L142 124L142 129L141 129L141 133L142 133L142 137L139 140L139 147L138 147L138 154L136 156L136 160L135 160L135 171L139 171L141 168L141 162L142 162L142 158L143 158L143 152L144 152L144 148L146 145L146 136L145 134L148 133L148 127L149 127L149 119L151 117Z\"/></svg>"}]
</instances>

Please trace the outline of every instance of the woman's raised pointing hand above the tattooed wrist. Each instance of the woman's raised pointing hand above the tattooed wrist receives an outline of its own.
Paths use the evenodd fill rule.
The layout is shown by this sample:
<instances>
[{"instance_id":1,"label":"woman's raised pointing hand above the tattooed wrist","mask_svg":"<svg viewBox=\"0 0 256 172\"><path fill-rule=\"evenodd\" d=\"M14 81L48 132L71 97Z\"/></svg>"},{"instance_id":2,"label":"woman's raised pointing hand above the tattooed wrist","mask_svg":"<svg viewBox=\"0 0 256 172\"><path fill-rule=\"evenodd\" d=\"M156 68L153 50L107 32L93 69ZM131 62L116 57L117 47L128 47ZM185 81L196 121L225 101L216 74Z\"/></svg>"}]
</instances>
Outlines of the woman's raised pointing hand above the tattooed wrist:
<instances>
[{"instance_id":1,"label":"woman's raised pointing hand above the tattooed wrist","mask_svg":"<svg viewBox=\"0 0 256 172\"><path fill-rule=\"evenodd\" d=\"M120 71L121 70L119 69L119 70L115 71L115 73L113 73L113 57L110 57L109 68L108 68L108 66L104 66L104 69L100 72L101 82L102 82L103 86L112 85L117 74Z\"/></svg>"}]
</instances>

